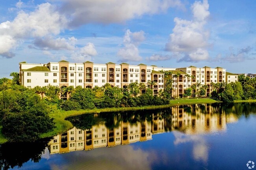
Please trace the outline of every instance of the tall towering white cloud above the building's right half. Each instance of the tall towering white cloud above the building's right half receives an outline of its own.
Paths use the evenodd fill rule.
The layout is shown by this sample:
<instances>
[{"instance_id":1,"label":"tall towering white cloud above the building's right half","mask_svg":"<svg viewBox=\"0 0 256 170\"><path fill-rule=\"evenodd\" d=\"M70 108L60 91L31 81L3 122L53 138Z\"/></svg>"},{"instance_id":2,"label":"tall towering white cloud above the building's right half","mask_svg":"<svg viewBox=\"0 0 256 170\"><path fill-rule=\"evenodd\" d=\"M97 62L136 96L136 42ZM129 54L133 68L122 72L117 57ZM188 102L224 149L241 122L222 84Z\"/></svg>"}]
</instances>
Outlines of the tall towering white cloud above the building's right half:
<instances>
[{"instance_id":1,"label":"tall towering white cloud above the building's right half","mask_svg":"<svg viewBox=\"0 0 256 170\"><path fill-rule=\"evenodd\" d=\"M206 48L210 46L208 39L209 31L204 30L207 18L210 15L208 11L209 4L207 0L196 1L191 5L193 13L192 20L182 20L174 18L175 27L170 34L169 42L165 45L167 51L178 52L183 61L197 62L209 58Z\"/></svg>"}]
</instances>

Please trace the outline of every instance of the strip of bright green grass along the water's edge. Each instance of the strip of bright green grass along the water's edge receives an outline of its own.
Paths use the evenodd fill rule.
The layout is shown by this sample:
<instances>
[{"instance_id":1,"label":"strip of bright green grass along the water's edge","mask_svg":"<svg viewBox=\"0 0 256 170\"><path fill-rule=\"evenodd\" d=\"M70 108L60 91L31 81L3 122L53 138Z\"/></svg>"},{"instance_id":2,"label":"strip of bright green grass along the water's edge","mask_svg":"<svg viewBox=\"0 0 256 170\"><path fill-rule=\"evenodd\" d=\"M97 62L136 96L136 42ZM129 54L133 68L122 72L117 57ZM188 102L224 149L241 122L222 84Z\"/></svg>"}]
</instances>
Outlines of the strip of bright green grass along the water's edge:
<instances>
[{"instance_id":1,"label":"strip of bright green grass along the water's edge","mask_svg":"<svg viewBox=\"0 0 256 170\"><path fill-rule=\"evenodd\" d=\"M132 111L132 110L151 110L151 109L161 109L161 108L168 108L172 106L179 106L184 104L210 104L216 103L214 99L178 99L178 100L171 100L167 105L158 105L158 106L143 106L143 107L123 107L123 108L102 108L102 109L92 109L92 110L69 110L69 111L60 111L56 114L50 114L51 118L54 118L54 122L56 123L56 128L54 128L51 132L43 133L40 135L40 138L45 137L53 137L63 132L67 132L69 129L73 128L74 126L71 122L66 121L67 117L77 116L82 114L88 113L101 113L101 112L122 112L122 111ZM256 102L256 99L250 100L239 100L234 101L234 103L243 103L243 102ZM0 126L0 144L6 143L7 139L4 138L2 134L2 126Z\"/></svg>"}]
</instances>

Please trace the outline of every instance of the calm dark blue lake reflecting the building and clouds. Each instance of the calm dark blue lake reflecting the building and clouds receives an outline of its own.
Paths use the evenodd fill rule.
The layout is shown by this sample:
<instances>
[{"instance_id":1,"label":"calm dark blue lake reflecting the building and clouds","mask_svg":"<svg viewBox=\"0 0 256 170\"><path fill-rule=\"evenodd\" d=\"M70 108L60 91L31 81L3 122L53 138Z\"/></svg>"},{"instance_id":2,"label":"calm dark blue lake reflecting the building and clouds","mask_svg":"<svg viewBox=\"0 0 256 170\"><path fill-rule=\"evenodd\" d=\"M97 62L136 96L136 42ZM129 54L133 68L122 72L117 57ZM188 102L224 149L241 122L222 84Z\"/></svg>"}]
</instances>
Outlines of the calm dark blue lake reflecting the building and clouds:
<instances>
[{"instance_id":1,"label":"calm dark blue lake reflecting the building and clouds","mask_svg":"<svg viewBox=\"0 0 256 170\"><path fill-rule=\"evenodd\" d=\"M193 104L69 117L37 143L2 144L2 169L247 170L256 163L256 104ZM256 169L256 167L255 167Z\"/></svg>"}]
</instances>

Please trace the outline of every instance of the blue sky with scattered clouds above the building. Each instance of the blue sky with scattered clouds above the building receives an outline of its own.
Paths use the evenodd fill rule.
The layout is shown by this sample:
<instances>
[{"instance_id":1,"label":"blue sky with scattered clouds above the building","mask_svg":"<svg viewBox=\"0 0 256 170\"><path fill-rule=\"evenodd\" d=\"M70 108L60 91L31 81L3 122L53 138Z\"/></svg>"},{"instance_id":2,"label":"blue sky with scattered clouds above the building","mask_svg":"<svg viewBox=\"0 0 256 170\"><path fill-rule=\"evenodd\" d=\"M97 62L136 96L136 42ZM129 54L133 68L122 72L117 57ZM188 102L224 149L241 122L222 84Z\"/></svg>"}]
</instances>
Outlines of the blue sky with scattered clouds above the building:
<instances>
[{"instance_id":1,"label":"blue sky with scattered clouds above the building","mask_svg":"<svg viewBox=\"0 0 256 170\"><path fill-rule=\"evenodd\" d=\"M87 60L256 73L254 0L0 0L0 78Z\"/></svg>"}]
</instances>

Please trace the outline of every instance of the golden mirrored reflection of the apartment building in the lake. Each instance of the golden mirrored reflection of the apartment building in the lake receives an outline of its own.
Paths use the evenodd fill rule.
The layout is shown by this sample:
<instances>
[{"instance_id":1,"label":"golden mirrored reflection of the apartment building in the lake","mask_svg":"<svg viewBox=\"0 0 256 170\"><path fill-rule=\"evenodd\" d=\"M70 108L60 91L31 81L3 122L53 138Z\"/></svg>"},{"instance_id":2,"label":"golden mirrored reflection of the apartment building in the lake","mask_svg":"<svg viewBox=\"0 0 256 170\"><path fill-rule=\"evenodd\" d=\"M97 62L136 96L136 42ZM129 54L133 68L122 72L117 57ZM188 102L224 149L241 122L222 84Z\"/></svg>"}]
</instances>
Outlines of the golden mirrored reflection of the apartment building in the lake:
<instances>
[{"instance_id":1,"label":"golden mirrored reflection of the apartment building in the lake","mask_svg":"<svg viewBox=\"0 0 256 170\"><path fill-rule=\"evenodd\" d=\"M50 154L147 141L151 140L154 134L172 130L185 134L225 131L227 123L238 120L236 115L226 114L219 106L211 104L182 105L165 110L139 112L143 113L117 113L118 115L112 116L113 120L110 122L116 126L106 126L109 119L102 119L104 121L97 122L90 129L74 127L66 133L57 135L49 142ZM106 113L94 114L93 118L97 119L104 114Z\"/></svg>"}]
</instances>

